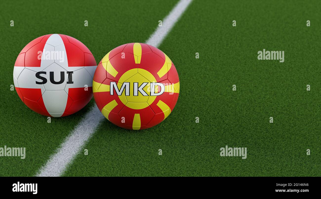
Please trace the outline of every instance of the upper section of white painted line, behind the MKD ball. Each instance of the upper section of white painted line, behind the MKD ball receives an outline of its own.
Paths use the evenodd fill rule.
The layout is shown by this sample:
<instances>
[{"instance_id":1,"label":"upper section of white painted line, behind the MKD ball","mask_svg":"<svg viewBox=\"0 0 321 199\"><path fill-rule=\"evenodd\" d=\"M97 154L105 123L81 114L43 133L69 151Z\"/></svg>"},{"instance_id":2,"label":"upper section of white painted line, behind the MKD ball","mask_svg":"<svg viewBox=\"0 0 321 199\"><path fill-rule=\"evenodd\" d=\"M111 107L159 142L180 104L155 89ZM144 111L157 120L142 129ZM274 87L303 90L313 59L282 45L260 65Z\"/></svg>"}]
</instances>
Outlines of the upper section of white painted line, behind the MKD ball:
<instances>
[{"instance_id":1,"label":"upper section of white painted line, behind the MKD ball","mask_svg":"<svg viewBox=\"0 0 321 199\"><path fill-rule=\"evenodd\" d=\"M180 0L169 15L162 20L162 26L157 27L146 43L158 47L191 2L192 0Z\"/></svg>"}]
</instances>

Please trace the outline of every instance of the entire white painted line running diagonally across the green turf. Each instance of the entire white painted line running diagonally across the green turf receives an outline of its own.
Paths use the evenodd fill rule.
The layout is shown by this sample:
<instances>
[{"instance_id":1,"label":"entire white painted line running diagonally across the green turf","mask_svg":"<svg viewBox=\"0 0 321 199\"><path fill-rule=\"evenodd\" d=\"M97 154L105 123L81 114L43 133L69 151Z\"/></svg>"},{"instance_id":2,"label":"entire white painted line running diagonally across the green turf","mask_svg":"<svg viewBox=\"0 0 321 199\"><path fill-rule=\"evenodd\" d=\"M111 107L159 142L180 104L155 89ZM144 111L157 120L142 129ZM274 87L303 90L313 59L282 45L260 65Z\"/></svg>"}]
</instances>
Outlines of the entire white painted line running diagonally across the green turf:
<instances>
[{"instance_id":1,"label":"entire white painted line running diagonally across the green turf","mask_svg":"<svg viewBox=\"0 0 321 199\"><path fill-rule=\"evenodd\" d=\"M163 19L162 26L157 27L146 43L158 47L191 2L192 0L180 0L169 15ZM92 107L65 138L56 153L50 156L48 162L39 169L36 176L62 175L104 118L96 105Z\"/></svg>"}]
</instances>

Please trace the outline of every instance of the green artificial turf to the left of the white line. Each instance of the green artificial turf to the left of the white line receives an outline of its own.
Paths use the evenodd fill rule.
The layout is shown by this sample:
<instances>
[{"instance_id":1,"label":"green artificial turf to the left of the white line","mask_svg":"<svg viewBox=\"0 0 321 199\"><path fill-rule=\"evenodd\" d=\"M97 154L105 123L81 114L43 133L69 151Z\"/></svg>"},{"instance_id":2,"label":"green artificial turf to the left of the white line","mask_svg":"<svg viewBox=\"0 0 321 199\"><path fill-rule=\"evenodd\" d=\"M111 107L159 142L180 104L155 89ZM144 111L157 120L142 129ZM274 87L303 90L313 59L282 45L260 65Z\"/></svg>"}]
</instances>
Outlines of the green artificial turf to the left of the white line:
<instances>
[{"instance_id":1,"label":"green artificial turf to the left of the white line","mask_svg":"<svg viewBox=\"0 0 321 199\"><path fill-rule=\"evenodd\" d=\"M33 176L55 153L94 100L64 118L41 116L10 90L14 62L31 40L50 33L70 35L84 43L96 61L118 45L143 42L175 1L22 1L1 2L0 147L26 147L26 158L0 157L0 176ZM10 21L14 26L10 26ZM88 27L84 21L88 21Z\"/></svg>"}]
</instances>

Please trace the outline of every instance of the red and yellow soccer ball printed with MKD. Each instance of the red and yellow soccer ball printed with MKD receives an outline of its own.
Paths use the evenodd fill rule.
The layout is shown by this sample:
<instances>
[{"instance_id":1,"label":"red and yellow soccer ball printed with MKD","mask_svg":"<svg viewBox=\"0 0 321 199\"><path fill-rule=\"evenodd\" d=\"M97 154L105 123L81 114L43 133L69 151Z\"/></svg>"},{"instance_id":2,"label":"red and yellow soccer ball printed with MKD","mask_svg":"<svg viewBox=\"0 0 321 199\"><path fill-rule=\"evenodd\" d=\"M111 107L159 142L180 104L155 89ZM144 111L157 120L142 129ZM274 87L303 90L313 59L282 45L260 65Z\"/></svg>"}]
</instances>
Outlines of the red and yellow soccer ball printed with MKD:
<instances>
[{"instance_id":1,"label":"red and yellow soccer ball printed with MKD","mask_svg":"<svg viewBox=\"0 0 321 199\"><path fill-rule=\"evenodd\" d=\"M92 89L99 110L109 121L139 130L159 124L172 112L179 79L165 53L148 44L128 43L102 58Z\"/></svg>"}]
</instances>

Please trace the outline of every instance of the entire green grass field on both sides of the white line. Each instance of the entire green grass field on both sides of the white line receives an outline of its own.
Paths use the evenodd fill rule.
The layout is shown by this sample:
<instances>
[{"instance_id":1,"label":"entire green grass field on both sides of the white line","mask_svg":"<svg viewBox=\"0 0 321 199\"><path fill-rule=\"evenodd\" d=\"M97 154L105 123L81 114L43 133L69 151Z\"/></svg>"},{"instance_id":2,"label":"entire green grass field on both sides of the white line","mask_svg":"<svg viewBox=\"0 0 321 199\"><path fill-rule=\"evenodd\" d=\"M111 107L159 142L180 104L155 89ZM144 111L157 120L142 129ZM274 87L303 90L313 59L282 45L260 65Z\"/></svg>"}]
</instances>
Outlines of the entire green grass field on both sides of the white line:
<instances>
[{"instance_id":1,"label":"entire green grass field on both sides of the white line","mask_svg":"<svg viewBox=\"0 0 321 199\"><path fill-rule=\"evenodd\" d=\"M26 158L0 157L0 176L36 175L96 106L92 99L51 123L27 108L10 90L14 62L27 43L49 33L70 35L98 63L121 44L144 43L177 3L61 1L54 9L53 1L32 2L1 5L0 147L26 147ZM88 155L82 150L63 176L321 176L320 6L319 1L194 0L159 46L180 79L174 111L140 131L105 119L84 146ZM284 62L258 60L263 49L284 51ZM226 145L247 147L247 158L221 157Z\"/></svg>"}]
</instances>

